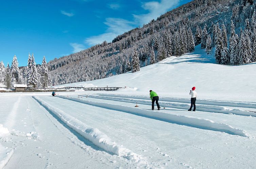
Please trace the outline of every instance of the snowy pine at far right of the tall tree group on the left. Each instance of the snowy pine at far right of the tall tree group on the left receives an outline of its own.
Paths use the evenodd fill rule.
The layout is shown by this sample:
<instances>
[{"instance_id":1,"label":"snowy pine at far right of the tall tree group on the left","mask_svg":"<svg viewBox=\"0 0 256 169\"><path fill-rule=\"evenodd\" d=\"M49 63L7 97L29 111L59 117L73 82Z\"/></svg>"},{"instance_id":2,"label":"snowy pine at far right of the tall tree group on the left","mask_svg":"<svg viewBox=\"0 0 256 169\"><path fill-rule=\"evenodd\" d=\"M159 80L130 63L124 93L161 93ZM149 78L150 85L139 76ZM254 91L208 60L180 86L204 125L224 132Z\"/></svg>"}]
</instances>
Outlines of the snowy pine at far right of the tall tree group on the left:
<instances>
[{"instance_id":1,"label":"snowy pine at far right of the tall tree group on the left","mask_svg":"<svg viewBox=\"0 0 256 169\"><path fill-rule=\"evenodd\" d=\"M47 88L52 85L51 74L47 67L47 62L45 56L43 56L43 61L41 65L41 86Z\"/></svg>"}]
</instances>

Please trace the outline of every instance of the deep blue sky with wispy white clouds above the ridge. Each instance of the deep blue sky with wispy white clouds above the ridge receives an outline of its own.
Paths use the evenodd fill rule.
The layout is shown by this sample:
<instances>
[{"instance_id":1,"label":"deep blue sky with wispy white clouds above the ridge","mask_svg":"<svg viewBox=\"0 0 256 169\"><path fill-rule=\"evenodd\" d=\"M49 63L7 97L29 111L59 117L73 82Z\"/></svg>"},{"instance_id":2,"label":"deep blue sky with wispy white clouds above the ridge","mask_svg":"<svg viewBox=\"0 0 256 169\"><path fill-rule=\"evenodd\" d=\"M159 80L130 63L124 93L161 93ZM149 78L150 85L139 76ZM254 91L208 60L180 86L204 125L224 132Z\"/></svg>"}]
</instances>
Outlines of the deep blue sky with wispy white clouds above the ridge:
<instances>
[{"instance_id":1,"label":"deep blue sky with wispy white clouds above the ridge","mask_svg":"<svg viewBox=\"0 0 256 169\"><path fill-rule=\"evenodd\" d=\"M25 66L111 42L191 0L10 0L0 5L0 61ZM11 66L11 65L10 65Z\"/></svg>"}]
</instances>

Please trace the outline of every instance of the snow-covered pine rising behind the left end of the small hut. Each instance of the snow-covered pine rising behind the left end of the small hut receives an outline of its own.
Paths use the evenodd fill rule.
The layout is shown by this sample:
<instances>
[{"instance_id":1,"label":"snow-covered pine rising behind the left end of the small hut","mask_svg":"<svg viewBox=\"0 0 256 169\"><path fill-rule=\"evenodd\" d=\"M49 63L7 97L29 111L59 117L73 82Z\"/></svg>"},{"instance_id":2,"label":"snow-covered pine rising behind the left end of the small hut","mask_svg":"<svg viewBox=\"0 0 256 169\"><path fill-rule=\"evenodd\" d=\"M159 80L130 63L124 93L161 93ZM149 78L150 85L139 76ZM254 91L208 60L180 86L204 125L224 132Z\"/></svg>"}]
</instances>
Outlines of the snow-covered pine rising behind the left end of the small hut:
<instances>
[{"instance_id":1,"label":"snow-covered pine rising behind the left end of the small hut","mask_svg":"<svg viewBox=\"0 0 256 169\"><path fill-rule=\"evenodd\" d=\"M17 57L14 55L11 67L12 86L14 84L21 84L20 70L18 66L19 63L17 61Z\"/></svg>"}]
</instances>

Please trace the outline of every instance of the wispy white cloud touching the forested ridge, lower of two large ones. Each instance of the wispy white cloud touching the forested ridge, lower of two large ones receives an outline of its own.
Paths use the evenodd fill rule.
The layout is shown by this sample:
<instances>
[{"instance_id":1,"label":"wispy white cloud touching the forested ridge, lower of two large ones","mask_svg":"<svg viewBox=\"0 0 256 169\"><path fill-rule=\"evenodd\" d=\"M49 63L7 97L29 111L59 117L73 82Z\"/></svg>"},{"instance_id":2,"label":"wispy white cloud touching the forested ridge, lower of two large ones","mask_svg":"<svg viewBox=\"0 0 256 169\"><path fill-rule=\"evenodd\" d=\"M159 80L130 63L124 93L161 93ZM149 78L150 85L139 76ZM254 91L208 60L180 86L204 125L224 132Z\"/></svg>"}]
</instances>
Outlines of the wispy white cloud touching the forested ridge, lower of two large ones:
<instances>
[{"instance_id":1,"label":"wispy white cloud touching the forested ridge, lower of two large ones","mask_svg":"<svg viewBox=\"0 0 256 169\"><path fill-rule=\"evenodd\" d=\"M91 46L102 43L104 40L111 42L117 35L123 34L134 27L133 22L120 18L107 18L104 23L108 25L106 33L86 38L86 44Z\"/></svg>"}]
</instances>

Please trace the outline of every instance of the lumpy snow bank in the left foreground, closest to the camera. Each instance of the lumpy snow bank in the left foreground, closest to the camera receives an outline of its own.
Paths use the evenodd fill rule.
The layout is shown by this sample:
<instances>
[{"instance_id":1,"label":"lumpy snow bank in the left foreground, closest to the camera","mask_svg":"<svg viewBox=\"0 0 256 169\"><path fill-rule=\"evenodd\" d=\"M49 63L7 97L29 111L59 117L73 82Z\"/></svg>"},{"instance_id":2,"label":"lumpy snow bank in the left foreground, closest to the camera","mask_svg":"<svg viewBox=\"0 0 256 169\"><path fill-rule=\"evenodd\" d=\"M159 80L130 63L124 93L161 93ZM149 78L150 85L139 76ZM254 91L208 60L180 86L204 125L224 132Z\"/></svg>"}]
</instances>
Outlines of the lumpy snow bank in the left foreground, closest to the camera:
<instances>
[{"instance_id":1,"label":"lumpy snow bank in the left foreground, closest to the camera","mask_svg":"<svg viewBox=\"0 0 256 169\"><path fill-rule=\"evenodd\" d=\"M65 124L67 124L70 128L84 136L86 139L90 140L96 146L110 152L116 154L118 156L122 156L129 160L139 162L143 159L140 155L135 154L131 150L123 147L122 145L117 145L114 141L112 141L105 133L99 131L97 128L92 128L78 119L70 116L69 114L50 106L47 102L39 99L38 97L33 96L33 98L39 102L45 109L50 111L51 113L57 115Z\"/></svg>"}]
</instances>

